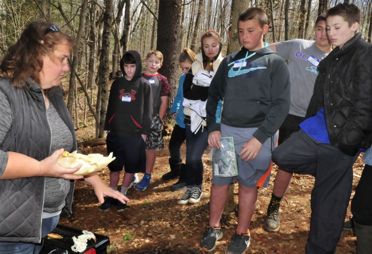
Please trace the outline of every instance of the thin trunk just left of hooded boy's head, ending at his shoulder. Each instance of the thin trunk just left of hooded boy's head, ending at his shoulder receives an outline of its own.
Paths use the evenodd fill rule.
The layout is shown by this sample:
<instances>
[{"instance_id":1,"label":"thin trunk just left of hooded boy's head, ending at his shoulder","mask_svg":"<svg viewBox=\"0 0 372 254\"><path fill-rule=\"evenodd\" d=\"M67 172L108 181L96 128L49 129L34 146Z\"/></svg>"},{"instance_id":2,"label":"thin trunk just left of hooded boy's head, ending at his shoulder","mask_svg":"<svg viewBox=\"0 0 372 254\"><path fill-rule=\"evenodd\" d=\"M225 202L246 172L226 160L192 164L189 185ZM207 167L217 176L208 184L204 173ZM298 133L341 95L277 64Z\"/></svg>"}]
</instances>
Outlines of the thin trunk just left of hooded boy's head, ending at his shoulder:
<instances>
[{"instance_id":1,"label":"thin trunk just left of hooded boy's head, ending at his shoulder","mask_svg":"<svg viewBox=\"0 0 372 254\"><path fill-rule=\"evenodd\" d=\"M125 4L125 0L119 0L118 14L116 15L114 22L113 22L114 51L113 51L113 71L111 73L111 79L116 79L120 77L120 75L118 75L119 61L120 61L119 27L120 27L120 21L123 16L124 4Z\"/></svg>"}]
</instances>

